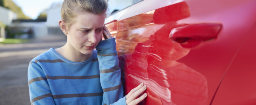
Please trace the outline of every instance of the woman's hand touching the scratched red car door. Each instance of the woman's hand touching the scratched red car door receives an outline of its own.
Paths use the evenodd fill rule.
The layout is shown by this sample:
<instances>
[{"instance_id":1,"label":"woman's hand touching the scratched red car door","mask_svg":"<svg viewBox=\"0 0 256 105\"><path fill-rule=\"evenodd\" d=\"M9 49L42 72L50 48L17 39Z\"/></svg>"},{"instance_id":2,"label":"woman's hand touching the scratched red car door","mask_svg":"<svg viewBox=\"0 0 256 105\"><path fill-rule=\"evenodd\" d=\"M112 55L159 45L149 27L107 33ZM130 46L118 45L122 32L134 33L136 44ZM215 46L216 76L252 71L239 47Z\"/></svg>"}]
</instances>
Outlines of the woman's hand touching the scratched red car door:
<instances>
[{"instance_id":1,"label":"woman's hand touching the scratched red car door","mask_svg":"<svg viewBox=\"0 0 256 105\"><path fill-rule=\"evenodd\" d=\"M138 97L143 91L147 89L147 86L141 83L139 86L135 87L132 89L126 96L126 104L127 105L136 105L140 103L143 99L147 97L147 93L144 93L142 96L139 98L135 99Z\"/></svg>"}]
</instances>

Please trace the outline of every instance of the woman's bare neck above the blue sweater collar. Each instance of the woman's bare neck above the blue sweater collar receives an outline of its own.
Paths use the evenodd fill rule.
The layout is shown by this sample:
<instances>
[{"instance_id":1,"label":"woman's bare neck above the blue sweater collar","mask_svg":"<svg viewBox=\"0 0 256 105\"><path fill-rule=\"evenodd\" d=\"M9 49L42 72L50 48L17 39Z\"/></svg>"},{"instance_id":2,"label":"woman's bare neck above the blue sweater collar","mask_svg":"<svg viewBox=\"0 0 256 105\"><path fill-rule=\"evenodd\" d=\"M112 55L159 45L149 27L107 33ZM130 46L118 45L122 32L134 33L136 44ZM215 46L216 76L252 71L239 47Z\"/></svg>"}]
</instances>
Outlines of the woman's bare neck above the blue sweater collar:
<instances>
[{"instance_id":1,"label":"woman's bare neck above the blue sweater collar","mask_svg":"<svg viewBox=\"0 0 256 105\"><path fill-rule=\"evenodd\" d=\"M74 47L68 44L68 42L61 48L56 49L56 51L63 56L64 58L74 61L74 62L83 62L92 56L92 54L85 55L76 50Z\"/></svg>"}]
</instances>

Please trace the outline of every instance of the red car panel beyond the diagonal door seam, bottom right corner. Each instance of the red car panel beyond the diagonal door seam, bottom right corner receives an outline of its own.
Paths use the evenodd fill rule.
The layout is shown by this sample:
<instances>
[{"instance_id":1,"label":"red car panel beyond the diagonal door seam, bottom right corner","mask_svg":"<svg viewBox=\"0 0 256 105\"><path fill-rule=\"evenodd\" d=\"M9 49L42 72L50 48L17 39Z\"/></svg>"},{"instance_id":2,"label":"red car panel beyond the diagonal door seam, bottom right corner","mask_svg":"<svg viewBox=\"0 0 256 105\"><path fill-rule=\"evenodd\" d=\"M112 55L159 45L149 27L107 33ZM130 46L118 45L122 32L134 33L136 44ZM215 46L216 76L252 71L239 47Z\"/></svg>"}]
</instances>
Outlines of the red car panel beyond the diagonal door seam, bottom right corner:
<instances>
[{"instance_id":1,"label":"red car panel beyond the diagonal door seam, bottom right corner","mask_svg":"<svg viewBox=\"0 0 256 105\"><path fill-rule=\"evenodd\" d=\"M213 101L214 105L256 104L256 22L246 35Z\"/></svg>"}]
</instances>

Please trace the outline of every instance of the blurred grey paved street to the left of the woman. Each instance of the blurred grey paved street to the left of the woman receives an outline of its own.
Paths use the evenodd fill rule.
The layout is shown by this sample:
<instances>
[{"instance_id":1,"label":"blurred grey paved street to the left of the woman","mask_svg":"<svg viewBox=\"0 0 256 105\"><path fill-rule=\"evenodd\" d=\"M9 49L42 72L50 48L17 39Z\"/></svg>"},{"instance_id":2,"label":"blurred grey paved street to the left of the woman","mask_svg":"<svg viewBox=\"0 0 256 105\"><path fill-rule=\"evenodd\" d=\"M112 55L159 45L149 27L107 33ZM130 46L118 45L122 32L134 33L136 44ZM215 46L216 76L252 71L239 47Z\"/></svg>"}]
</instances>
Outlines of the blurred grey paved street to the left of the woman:
<instances>
[{"instance_id":1,"label":"blurred grey paved street to the left of the woman","mask_svg":"<svg viewBox=\"0 0 256 105\"><path fill-rule=\"evenodd\" d=\"M30 105L27 68L32 58L66 43L66 37L47 36L29 43L0 44L0 105Z\"/></svg>"}]
</instances>

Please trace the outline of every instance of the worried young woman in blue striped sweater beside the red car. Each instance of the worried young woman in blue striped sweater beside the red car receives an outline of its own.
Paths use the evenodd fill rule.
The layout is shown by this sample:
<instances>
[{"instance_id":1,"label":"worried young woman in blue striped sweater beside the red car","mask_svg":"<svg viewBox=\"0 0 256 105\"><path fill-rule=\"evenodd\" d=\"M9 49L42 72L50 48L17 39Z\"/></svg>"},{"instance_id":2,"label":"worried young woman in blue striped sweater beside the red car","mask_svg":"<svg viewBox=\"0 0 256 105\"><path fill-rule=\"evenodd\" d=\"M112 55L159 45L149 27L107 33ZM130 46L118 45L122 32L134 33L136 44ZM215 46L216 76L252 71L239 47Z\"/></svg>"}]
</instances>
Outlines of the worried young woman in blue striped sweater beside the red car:
<instances>
[{"instance_id":1,"label":"worried young woman in blue striped sweater beside the red car","mask_svg":"<svg viewBox=\"0 0 256 105\"><path fill-rule=\"evenodd\" d=\"M135 105L147 97L136 99L146 90L143 83L123 97L115 38L104 25L106 10L105 0L63 1L59 26L67 43L29 63L31 104Z\"/></svg>"}]
</instances>

